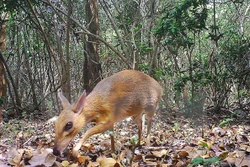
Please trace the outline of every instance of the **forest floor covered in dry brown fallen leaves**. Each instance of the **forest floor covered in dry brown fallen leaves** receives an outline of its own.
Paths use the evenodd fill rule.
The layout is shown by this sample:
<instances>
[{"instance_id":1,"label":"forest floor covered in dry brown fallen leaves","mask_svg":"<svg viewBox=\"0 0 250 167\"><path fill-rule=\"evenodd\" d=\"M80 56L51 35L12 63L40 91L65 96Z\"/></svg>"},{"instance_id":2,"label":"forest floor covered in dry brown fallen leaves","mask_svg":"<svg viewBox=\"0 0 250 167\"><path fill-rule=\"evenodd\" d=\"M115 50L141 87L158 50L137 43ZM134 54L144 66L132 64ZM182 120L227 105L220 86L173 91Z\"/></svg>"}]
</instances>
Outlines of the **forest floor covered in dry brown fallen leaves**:
<instances>
[{"instance_id":1,"label":"forest floor covered in dry brown fallen leaves","mask_svg":"<svg viewBox=\"0 0 250 167\"><path fill-rule=\"evenodd\" d=\"M72 147L88 127L56 157L51 149L53 120L47 121L46 116L11 119L0 123L0 166L250 166L250 113L206 113L157 112L150 147L144 142L134 146L137 127L124 120L115 126L115 153L110 150L109 132L105 132L88 139L75 160ZM143 134L145 137L145 130Z\"/></svg>"}]
</instances>

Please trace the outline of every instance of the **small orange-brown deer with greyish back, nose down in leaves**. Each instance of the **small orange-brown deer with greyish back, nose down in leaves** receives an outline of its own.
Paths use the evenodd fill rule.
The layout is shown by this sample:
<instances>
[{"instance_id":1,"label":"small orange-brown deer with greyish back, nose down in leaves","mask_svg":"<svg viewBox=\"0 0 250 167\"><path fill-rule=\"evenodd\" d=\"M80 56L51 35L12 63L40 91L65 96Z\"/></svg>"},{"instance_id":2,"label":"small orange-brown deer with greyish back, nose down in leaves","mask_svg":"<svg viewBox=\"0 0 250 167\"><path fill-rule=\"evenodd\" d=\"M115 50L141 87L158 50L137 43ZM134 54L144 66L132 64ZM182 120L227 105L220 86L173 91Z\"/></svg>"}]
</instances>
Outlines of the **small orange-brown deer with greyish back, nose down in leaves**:
<instances>
[{"instance_id":1,"label":"small orange-brown deer with greyish back, nose down in leaves","mask_svg":"<svg viewBox=\"0 0 250 167\"><path fill-rule=\"evenodd\" d=\"M70 105L60 94L63 111L55 126L55 152L63 151L87 123L96 122L96 126L89 129L73 149L73 155L76 156L88 137L112 129L115 122L127 117L132 117L138 125L140 141L141 115L143 113L146 114L149 122L147 132L149 139L152 116L161 95L162 88L158 82L148 75L134 70L124 70L102 80L87 97L83 93L74 105ZM69 121L73 123L73 128L65 131L64 127Z\"/></svg>"}]
</instances>

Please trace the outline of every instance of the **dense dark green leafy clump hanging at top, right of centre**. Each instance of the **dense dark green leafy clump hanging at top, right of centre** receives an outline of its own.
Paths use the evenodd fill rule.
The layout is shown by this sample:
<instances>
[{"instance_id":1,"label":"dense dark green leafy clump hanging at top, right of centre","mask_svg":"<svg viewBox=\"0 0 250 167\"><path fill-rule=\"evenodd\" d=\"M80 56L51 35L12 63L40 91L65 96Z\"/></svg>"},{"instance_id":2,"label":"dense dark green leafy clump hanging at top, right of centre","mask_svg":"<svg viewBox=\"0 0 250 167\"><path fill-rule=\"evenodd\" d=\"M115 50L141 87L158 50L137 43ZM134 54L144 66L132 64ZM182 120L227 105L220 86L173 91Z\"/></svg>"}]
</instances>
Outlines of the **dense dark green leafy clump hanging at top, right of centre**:
<instances>
[{"instance_id":1,"label":"dense dark green leafy clump hanging at top, right of centre","mask_svg":"<svg viewBox=\"0 0 250 167\"><path fill-rule=\"evenodd\" d=\"M159 37L167 36L164 40L166 45L190 48L194 41L189 33L206 29L207 3L207 0L185 0L177 3L164 14L154 33Z\"/></svg>"}]
</instances>

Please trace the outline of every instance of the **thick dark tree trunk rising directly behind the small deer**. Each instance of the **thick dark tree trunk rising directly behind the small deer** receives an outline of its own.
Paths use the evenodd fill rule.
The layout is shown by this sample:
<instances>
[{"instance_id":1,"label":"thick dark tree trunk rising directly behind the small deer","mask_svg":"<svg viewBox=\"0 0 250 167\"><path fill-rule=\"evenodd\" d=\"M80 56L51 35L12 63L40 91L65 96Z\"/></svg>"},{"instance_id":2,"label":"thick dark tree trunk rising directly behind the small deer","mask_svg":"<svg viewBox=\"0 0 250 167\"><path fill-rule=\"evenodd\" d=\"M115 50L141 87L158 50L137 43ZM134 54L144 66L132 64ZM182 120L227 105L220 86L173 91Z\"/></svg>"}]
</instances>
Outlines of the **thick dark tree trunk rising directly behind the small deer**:
<instances>
[{"instance_id":1,"label":"thick dark tree trunk rising directly behind the small deer","mask_svg":"<svg viewBox=\"0 0 250 167\"><path fill-rule=\"evenodd\" d=\"M99 35L98 4L97 0L88 0L85 6L86 21L88 30L95 35ZM99 62L99 41L87 35L85 44L84 62L84 89L90 92L101 80L101 64Z\"/></svg>"}]
</instances>

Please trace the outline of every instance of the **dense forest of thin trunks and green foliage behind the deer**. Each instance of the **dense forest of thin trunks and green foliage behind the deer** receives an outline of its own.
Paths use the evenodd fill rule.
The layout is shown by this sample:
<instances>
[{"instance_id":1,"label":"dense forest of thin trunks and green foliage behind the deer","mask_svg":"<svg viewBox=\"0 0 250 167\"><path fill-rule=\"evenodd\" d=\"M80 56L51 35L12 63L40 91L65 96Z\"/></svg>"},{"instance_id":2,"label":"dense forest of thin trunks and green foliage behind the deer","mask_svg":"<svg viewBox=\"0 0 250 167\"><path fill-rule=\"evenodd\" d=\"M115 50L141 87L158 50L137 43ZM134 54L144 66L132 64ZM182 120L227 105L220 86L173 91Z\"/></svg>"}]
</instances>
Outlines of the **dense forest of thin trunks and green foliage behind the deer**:
<instances>
[{"instance_id":1,"label":"dense forest of thin trunks and green foliage behind the deer","mask_svg":"<svg viewBox=\"0 0 250 167\"><path fill-rule=\"evenodd\" d=\"M158 80L166 111L247 110L249 8L247 0L3 0L1 112L52 117L59 88L71 101L122 69Z\"/></svg>"}]
</instances>

